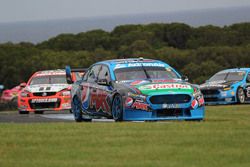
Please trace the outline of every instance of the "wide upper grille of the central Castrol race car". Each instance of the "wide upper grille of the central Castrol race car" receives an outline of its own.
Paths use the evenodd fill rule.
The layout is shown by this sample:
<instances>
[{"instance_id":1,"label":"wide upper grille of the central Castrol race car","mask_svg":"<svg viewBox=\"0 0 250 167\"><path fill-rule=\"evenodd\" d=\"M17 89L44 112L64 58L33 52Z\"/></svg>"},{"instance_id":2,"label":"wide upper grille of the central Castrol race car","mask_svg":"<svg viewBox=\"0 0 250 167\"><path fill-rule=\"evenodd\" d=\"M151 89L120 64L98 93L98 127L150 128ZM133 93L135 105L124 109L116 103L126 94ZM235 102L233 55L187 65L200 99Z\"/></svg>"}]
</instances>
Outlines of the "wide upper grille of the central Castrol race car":
<instances>
[{"instance_id":1,"label":"wide upper grille of the central Castrol race car","mask_svg":"<svg viewBox=\"0 0 250 167\"><path fill-rule=\"evenodd\" d=\"M185 94L178 95L157 95L150 97L149 101L152 104L180 104L188 103L191 100L191 96Z\"/></svg>"}]
</instances>

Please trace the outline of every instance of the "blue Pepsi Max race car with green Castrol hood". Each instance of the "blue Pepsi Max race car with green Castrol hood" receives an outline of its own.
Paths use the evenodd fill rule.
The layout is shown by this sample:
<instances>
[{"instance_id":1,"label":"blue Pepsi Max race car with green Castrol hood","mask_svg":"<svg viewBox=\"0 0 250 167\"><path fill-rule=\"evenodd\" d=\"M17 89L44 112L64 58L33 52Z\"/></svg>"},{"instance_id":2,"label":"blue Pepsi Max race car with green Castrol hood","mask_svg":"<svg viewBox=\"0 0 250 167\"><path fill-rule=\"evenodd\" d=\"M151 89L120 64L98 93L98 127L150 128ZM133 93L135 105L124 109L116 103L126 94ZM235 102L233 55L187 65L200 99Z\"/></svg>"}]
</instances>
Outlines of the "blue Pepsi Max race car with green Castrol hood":
<instances>
[{"instance_id":1,"label":"blue Pepsi Max race car with green Castrol hood","mask_svg":"<svg viewBox=\"0 0 250 167\"><path fill-rule=\"evenodd\" d=\"M66 67L67 81L70 67ZM71 90L77 122L203 120L204 99L168 64L152 59L116 59L93 64Z\"/></svg>"}]
</instances>

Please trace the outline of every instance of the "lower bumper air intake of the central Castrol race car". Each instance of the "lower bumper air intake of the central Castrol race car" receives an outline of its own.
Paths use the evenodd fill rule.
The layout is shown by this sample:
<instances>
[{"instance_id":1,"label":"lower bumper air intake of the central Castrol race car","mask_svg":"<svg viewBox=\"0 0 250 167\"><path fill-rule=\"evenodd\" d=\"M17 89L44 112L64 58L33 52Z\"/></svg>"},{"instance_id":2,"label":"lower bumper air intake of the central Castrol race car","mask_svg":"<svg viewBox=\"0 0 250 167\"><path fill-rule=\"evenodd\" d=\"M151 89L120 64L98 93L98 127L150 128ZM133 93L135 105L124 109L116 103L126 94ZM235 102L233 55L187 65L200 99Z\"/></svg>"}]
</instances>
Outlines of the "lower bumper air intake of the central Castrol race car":
<instances>
[{"instance_id":1,"label":"lower bumper air intake of the central Castrol race car","mask_svg":"<svg viewBox=\"0 0 250 167\"><path fill-rule=\"evenodd\" d=\"M179 117L179 116L191 116L190 109L161 109L156 111L157 117Z\"/></svg>"}]
</instances>

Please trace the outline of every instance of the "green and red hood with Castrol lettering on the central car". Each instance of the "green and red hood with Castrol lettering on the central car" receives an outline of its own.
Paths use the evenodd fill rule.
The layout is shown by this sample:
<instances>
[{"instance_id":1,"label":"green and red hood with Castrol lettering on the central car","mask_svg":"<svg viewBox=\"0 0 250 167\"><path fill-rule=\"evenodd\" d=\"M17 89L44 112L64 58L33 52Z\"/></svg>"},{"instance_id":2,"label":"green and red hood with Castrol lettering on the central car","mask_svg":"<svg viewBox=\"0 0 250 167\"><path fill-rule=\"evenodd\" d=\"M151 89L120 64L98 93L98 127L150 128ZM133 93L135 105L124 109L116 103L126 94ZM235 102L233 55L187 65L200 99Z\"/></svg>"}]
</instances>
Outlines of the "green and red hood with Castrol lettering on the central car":
<instances>
[{"instance_id":1,"label":"green and red hood with Castrol lettering on the central car","mask_svg":"<svg viewBox=\"0 0 250 167\"><path fill-rule=\"evenodd\" d=\"M194 92L191 84L178 80L136 80L123 85L133 89L138 94L149 96L179 93L192 94Z\"/></svg>"}]
</instances>

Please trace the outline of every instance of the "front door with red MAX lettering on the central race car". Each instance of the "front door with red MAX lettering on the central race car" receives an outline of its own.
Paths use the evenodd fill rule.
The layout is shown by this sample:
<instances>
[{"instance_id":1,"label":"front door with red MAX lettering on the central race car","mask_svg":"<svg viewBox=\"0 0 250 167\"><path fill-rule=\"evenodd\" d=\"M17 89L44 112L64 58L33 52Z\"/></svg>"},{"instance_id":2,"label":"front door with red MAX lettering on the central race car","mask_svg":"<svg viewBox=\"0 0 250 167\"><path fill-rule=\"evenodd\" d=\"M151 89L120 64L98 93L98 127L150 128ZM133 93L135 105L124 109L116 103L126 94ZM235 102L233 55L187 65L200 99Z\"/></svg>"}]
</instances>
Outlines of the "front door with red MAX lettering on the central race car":
<instances>
[{"instance_id":1,"label":"front door with red MAX lettering on the central race car","mask_svg":"<svg viewBox=\"0 0 250 167\"><path fill-rule=\"evenodd\" d=\"M100 115L111 115L111 94L110 71L108 66L102 65L97 78L96 87L93 88L92 103L95 105L96 112Z\"/></svg>"}]
</instances>

